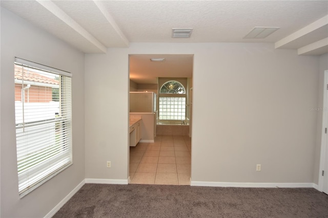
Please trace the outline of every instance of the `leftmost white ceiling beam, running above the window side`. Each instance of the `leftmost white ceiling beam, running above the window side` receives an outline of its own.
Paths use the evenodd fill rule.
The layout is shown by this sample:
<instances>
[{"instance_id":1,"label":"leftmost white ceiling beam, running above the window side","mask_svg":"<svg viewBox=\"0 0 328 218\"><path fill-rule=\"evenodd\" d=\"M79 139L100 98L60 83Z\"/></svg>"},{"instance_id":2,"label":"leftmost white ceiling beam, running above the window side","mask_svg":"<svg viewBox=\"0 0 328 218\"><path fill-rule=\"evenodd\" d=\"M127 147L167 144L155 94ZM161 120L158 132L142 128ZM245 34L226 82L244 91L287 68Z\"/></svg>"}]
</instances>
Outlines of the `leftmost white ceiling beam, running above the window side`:
<instances>
[{"instance_id":1,"label":"leftmost white ceiling beam, running above the window side","mask_svg":"<svg viewBox=\"0 0 328 218\"><path fill-rule=\"evenodd\" d=\"M96 48L98 48L101 52L103 52L103 53L107 52L106 46L104 46L101 42L99 42L86 29L84 29L78 23L76 23L76 21L72 17L70 17L68 14L66 14L63 10L61 10L53 2L51 2L51 1L40 1L40 0L36 0L36 2L38 2L40 5L45 7L49 12L51 12L53 15L55 15L60 20L62 20L66 25L71 27L79 35L81 35L85 39L87 39L90 43L92 43L92 45L94 45Z\"/></svg>"}]
</instances>

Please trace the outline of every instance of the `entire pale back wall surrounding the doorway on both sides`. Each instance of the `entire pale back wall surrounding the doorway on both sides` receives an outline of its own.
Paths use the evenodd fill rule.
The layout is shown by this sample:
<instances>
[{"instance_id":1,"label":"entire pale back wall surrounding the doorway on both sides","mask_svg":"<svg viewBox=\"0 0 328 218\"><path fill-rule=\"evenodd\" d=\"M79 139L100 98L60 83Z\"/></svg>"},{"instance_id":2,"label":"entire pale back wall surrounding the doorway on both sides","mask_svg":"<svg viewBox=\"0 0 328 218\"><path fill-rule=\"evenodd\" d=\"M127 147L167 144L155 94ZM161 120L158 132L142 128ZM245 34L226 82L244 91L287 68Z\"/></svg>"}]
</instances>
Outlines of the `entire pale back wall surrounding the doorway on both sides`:
<instances>
[{"instance_id":1,"label":"entire pale back wall surrounding the doorway on both sides","mask_svg":"<svg viewBox=\"0 0 328 218\"><path fill-rule=\"evenodd\" d=\"M319 58L271 43L131 43L86 55L87 178L128 177L129 54L194 54L192 181L314 181Z\"/></svg>"}]
</instances>

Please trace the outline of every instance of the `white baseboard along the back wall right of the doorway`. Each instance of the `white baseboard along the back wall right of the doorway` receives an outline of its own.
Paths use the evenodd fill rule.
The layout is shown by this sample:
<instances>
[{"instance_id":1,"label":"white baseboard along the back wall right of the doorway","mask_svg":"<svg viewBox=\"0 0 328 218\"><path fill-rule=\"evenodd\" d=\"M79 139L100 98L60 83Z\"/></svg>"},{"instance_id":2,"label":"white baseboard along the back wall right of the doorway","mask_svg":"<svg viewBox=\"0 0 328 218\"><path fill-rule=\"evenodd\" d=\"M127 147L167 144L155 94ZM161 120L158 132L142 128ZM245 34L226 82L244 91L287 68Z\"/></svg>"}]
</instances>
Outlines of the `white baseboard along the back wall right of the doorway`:
<instances>
[{"instance_id":1,"label":"white baseboard along the back wall right of the doorway","mask_svg":"<svg viewBox=\"0 0 328 218\"><path fill-rule=\"evenodd\" d=\"M191 181L190 186L241 187L241 188L315 188L314 183L242 183Z\"/></svg>"}]
</instances>

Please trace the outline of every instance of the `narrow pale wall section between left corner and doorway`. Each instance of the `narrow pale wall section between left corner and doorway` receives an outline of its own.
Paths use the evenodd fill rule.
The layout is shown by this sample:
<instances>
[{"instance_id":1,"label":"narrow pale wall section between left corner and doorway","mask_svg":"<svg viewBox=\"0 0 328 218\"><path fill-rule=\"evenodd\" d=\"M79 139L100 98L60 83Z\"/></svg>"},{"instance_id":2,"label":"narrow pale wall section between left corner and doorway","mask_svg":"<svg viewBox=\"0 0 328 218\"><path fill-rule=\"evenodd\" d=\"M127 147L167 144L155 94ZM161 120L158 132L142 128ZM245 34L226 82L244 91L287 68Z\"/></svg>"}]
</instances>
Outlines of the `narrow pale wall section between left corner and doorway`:
<instances>
[{"instance_id":1,"label":"narrow pale wall section between left corner and doorway","mask_svg":"<svg viewBox=\"0 0 328 218\"><path fill-rule=\"evenodd\" d=\"M128 179L128 58L126 49L85 56L86 178Z\"/></svg>"}]
</instances>

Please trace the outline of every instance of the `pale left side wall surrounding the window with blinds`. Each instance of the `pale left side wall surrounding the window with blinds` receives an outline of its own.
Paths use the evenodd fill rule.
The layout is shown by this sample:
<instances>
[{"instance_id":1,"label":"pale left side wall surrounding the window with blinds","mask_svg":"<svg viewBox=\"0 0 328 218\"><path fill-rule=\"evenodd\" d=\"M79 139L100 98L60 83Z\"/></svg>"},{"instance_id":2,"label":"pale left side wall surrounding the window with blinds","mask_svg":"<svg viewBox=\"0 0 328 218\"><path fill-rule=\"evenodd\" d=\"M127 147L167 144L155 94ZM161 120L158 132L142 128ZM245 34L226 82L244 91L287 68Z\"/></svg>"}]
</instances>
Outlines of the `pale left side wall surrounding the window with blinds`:
<instances>
[{"instance_id":1,"label":"pale left side wall surrounding the window with blinds","mask_svg":"<svg viewBox=\"0 0 328 218\"><path fill-rule=\"evenodd\" d=\"M18 197L14 57L69 71L73 99L73 165ZM43 217L85 178L84 54L1 8L1 217Z\"/></svg>"}]
</instances>

